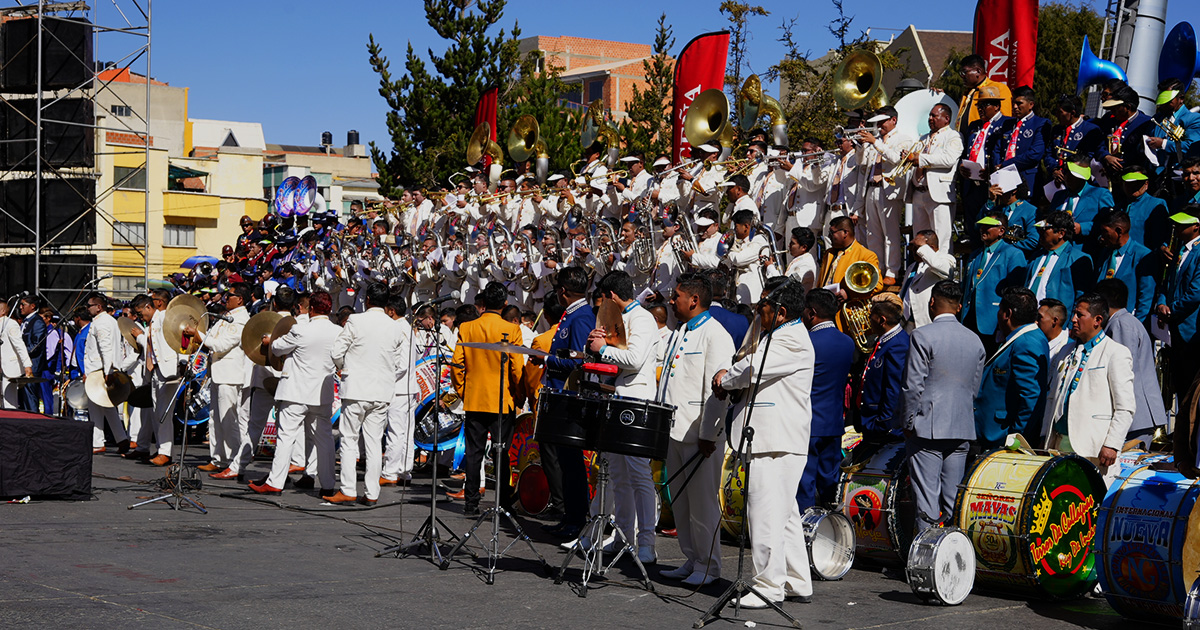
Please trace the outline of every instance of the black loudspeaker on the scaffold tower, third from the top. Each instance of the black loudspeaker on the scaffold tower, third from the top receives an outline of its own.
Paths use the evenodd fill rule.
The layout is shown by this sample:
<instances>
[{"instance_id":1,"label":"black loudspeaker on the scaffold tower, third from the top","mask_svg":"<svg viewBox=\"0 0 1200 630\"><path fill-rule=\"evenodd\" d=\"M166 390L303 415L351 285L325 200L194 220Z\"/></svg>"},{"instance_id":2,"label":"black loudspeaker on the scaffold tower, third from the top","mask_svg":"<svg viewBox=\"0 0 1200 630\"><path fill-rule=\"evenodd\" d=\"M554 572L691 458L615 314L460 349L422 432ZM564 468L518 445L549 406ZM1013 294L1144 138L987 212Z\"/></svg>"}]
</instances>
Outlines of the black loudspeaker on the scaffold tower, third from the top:
<instances>
[{"instance_id":1,"label":"black loudspeaker on the scaffold tower, third from the top","mask_svg":"<svg viewBox=\"0 0 1200 630\"><path fill-rule=\"evenodd\" d=\"M0 182L0 242L34 241L34 184L32 179ZM96 180L43 179L42 245L96 245L95 204Z\"/></svg>"}]
</instances>

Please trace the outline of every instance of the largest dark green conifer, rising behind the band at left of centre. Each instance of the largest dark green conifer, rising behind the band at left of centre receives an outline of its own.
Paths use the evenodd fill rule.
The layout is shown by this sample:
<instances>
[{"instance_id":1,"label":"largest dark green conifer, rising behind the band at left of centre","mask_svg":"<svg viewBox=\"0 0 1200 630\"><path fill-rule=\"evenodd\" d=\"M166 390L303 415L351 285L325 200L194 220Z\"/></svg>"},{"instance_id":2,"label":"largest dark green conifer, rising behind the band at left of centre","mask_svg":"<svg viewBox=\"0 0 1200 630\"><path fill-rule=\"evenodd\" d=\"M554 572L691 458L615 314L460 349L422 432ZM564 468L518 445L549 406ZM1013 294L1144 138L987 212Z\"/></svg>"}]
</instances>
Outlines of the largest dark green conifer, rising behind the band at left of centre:
<instances>
[{"instance_id":1,"label":"largest dark green conifer, rising behind the band at left of centre","mask_svg":"<svg viewBox=\"0 0 1200 630\"><path fill-rule=\"evenodd\" d=\"M442 186L462 169L479 96L493 85L509 94L516 80L520 28L514 23L511 35L503 29L488 35L504 6L505 0L425 0L426 20L449 42L442 55L428 52L433 72L409 43L404 73L394 77L383 47L371 35L367 52L379 74L379 96L390 108L392 143L390 151L371 143L380 194L395 196L408 186ZM500 109L505 104L502 100Z\"/></svg>"}]
</instances>

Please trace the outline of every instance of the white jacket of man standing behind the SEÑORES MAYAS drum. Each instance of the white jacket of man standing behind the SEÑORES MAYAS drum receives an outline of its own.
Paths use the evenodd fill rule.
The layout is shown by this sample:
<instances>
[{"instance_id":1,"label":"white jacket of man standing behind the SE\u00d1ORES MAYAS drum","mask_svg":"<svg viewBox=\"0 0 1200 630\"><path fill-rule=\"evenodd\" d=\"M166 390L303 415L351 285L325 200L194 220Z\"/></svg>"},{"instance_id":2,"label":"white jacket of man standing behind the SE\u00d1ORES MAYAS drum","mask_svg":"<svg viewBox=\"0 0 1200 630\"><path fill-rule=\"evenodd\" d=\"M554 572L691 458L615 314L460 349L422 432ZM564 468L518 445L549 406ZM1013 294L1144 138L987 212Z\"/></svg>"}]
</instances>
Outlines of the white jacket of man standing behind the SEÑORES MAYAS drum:
<instances>
[{"instance_id":1,"label":"white jacket of man standing behind the SE\u00d1ORES MAYAS drum","mask_svg":"<svg viewBox=\"0 0 1200 630\"><path fill-rule=\"evenodd\" d=\"M1069 348L1070 353L1058 364L1050 383L1050 398L1046 401L1043 421L1048 438L1055 420L1062 415L1067 388L1078 370L1075 355L1081 352L1080 346L1073 342ZM1070 395L1067 436L1070 437L1072 449L1084 457L1098 457L1103 446L1120 451L1129 433L1129 425L1133 424L1136 401L1133 355L1129 354L1129 348L1105 336L1092 348L1079 386ZM1048 439L1046 446L1049 445Z\"/></svg>"}]
</instances>

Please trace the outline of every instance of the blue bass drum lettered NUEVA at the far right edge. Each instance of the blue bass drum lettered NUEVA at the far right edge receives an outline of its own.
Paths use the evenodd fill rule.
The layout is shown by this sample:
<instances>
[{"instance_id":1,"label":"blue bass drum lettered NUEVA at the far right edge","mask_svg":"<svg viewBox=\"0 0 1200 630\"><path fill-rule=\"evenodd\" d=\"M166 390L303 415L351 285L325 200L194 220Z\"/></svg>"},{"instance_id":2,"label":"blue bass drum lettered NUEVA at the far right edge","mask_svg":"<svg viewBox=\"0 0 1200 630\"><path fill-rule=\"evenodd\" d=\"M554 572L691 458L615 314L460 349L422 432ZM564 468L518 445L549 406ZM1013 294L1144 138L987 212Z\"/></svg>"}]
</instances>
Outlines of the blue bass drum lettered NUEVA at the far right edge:
<instances>
[{"instance_id":1,"label":"blue bass drum lettered NUEVA at the far right edge","mask_svg":"<svg viewBox=\"0 0 1200 630\"><path fill-rule=\"evenodd\" d=\"M1126 469L1097 523L1097 572L1104 598L1124 617L1183 617L1188 582L1200 568L1200 484L1166 462Z\"/></svg>"}]
</instances>

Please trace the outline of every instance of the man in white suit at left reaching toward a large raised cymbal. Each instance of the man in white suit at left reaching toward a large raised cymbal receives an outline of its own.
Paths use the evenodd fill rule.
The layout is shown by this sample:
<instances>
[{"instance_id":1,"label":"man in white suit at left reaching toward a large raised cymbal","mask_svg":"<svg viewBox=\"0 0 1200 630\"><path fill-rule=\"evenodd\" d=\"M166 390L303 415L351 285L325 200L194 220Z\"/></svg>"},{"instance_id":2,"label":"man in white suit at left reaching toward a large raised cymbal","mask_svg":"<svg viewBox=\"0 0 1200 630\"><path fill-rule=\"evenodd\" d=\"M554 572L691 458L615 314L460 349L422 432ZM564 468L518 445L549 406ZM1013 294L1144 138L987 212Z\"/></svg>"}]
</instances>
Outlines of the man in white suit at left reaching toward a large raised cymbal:
<instances>
[{"instance_id":1,"label":"man in white suit at left reaching toward a large raised cymbal","mask_svg":"<svg viewBox=\"0 0 1200 630\"><path fill-rule=\"evenodd\" d=\"M200 332L187 326L184 334L197 338L209 349L209 380L211 382L212 413L209 415L209 462L197 467L205 473L220 473L233 466L235 457L253 456L241 454L239 446L248 424L241 426L238 409L242 403L242 386L246 383L246 353L241 350L241 331L250 320L246 301L250 286L239 282L226 295L226 316L232 322L217 319L209 331ZM248 440L246 440L248 442ZM247 462L248 463L248 457Z\"/></svg>"}]
</instances>

